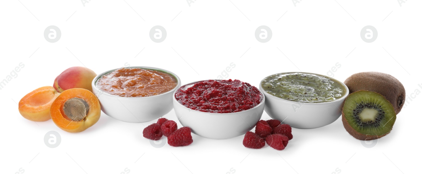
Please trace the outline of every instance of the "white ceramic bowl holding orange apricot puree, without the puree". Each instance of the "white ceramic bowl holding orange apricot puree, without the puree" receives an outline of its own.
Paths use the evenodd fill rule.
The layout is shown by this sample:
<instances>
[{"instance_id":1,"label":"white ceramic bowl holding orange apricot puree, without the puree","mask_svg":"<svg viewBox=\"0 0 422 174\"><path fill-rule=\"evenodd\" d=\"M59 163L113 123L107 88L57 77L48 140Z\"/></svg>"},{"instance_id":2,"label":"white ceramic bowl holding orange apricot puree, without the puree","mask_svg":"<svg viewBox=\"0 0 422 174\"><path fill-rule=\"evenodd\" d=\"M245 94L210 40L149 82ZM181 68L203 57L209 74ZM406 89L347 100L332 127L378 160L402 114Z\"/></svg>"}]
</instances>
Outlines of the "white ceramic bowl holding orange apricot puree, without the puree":
<instances>
[{"instance_id":1,"label":"white ceramic bowl holding orange apricot puree, without the puree","mask_svg":"<svg viewBox=\"0 0 422 174\"><path fill-rule=\"evenodd\" d=\"M92 92L100 100L101 110L112 118L130 123L141 123L160 118L173 108L171 96L180 87L180 78L173 72L155 67L130 67L158 70L173 75L177 79L177 86L172 90L156 96L122 97L100 91L96 86L97 80L114 70L103 72L92 80Z\"/></svg>"}]
</instances>

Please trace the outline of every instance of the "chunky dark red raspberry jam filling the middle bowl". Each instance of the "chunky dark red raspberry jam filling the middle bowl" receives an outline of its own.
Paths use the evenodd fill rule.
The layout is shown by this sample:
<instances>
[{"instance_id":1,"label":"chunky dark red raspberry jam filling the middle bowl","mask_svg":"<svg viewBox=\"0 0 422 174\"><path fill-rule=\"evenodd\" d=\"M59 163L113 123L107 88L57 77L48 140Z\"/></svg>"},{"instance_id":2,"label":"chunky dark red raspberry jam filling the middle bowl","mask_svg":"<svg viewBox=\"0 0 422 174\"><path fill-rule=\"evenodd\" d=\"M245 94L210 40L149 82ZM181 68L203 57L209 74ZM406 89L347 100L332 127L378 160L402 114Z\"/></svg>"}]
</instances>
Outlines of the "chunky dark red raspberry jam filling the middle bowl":
<instances>
[{"instance_id":1,"label":"chunky dark red raspberry jam filling the middle bowl","mask_svg":"<svg viewBox=\"0 0 422 174\"><path fill-rule=\"evenodd\" d=\"M258 88L240 80L204 80L177 89L176 100L192 110L232 113L249 110L262 102Z\"/></svg>"}]
</instances>

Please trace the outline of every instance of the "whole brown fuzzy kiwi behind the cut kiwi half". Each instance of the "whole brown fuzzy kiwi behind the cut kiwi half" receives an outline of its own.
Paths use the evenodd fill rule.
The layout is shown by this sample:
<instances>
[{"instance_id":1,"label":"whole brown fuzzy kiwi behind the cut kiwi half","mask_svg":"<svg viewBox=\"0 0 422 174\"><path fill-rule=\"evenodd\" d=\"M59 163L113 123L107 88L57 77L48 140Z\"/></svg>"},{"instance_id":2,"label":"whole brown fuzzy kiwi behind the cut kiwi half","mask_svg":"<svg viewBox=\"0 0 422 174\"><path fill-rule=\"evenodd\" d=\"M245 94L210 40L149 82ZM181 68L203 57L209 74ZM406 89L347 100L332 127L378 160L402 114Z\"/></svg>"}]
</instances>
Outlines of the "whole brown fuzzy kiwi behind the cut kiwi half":
<instances>
[{"instance_id":1,"label":"whole brown fuzzy kiwi behind the cut kiwi half","mask_svg":"<svg viewBox=\"0 0 422 174\"><path fill-rule=\"evenodd\" d=\"M382 72L359 72L344 81L350 94L355 91L367 90L383 95L394 107L396 115L403 108L406 90L402 83L392 75Z\"/></svg>"}]
</instances>

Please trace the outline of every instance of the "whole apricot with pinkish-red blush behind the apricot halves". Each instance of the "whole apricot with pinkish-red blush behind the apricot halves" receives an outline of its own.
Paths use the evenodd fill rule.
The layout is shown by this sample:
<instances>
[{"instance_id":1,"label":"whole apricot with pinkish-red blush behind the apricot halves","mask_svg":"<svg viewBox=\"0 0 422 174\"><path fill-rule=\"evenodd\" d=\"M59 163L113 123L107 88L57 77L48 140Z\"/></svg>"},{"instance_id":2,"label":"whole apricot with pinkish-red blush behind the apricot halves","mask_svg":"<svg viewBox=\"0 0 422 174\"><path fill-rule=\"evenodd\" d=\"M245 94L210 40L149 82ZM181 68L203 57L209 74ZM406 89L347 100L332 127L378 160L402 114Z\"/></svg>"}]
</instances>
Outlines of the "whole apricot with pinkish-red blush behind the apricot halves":
<instances>
[{"instance_id":1,"label":"whole apricot with pinkish-red blush behind the apricot halves","mask_svg":"<svg viewBox=\"0 0 422 174\"><path fill-rule=\"evenodd\" d=\"M92 92L92 80L97 76L94 71L86 67L70 67L54 80L53 87L57 92L71 88L84 88Z\"/></svg>"}]
</instances>

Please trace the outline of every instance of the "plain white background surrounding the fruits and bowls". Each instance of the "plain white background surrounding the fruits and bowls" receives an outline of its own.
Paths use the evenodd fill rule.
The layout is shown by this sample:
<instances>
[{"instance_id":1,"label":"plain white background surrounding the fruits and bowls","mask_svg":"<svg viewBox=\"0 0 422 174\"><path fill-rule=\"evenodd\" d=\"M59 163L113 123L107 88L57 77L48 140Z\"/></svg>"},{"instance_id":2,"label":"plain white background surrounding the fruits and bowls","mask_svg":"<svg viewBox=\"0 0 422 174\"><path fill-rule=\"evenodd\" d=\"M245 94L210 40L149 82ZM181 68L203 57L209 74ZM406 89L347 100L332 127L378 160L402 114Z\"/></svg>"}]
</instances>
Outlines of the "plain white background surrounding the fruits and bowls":
<instances>
[{"instance_id":1,"label":"plain white background surrounding the fruits and bowls","mask_svg":"<svg viewBox=\"0 0 422 174\"><path fill-rule=\"evenodd\" d=\"M185 0L88 2L1 2L0 80L20 62L25 65L0 90L1 173L418 172L422 2L197 0L190 6ZM56 43L44 39L44 29L50 25L62 32ZM162 43L149 38L156 25L167 31ZM255 39L255 29L261 25L273 32L267 43ZM373 43L360 37L367 25L378 31ZM214 140L195 134L187 147L155 148L142 137L142 130L156 120L124 123L103 113L94 126L73 134L52 120L24 119L15 103L36 88L52 86L54 78L72 66L86 66L97 74L125 64L159 67L176 73L186 84L216 79L232 62L236 66L225 79L254 86L279 72L326 75L336 63L341 67L334 78L340 81L356 72L385 72L405 86L407 106L392 132L372 142L376 143L372 148L351 137L339 118L322 128L293 128L294 138L285 150L277 151L268 145L259 150L243 147L243 136ZM176 120L173 110L164 117ZM270 117L264 112L262 119ZM48 131L61 135L58 147L44 144Z\"/></svg>"}]
</instances>

